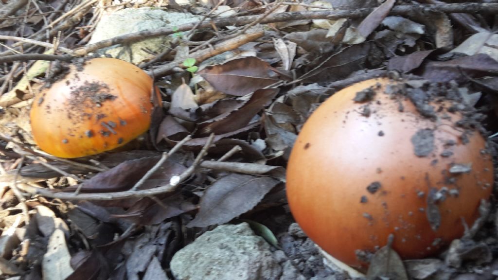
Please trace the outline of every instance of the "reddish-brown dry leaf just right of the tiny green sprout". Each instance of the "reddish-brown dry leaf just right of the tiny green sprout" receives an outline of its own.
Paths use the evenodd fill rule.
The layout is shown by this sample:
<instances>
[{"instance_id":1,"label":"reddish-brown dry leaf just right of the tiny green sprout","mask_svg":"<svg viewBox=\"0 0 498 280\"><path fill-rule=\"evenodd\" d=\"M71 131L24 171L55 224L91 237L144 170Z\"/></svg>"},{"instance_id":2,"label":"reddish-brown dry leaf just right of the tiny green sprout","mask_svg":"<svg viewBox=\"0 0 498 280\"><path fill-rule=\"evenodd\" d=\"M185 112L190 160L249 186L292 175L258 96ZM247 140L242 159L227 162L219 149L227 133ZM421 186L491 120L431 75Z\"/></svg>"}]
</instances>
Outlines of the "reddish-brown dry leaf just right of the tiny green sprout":
<instances>
[{"instance_id":1,"label":"reddish-brown dry leaf just right of the tiny green sprout","mask_svg":"<svg viewBox=\"0 0 498 280\"><path fill-rule=\"evenodd\" d=\"M224 64L208 66L198 74L216 90L225 94L245 96L267 87L278 79L270 77L270 65L257 57L234 59Z\"/></svg>"}]
</instances>

